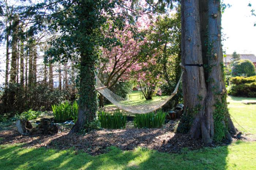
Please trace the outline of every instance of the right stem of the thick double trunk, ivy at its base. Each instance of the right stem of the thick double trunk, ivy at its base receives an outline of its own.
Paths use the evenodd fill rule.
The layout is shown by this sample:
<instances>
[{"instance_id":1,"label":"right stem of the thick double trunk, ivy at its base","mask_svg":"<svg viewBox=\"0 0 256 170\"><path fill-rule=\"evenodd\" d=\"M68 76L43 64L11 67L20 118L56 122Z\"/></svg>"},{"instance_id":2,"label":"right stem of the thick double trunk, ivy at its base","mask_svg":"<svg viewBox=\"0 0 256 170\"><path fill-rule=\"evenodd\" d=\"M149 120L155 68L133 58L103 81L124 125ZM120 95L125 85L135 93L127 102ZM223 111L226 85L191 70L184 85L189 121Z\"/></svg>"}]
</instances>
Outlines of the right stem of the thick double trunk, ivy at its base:
<instances>
[{"instance_id":1,"label":"right stem of the thick double trunk, ivy at its base","mask_svg":"<svg viewBox=\"0 0 256 170\"><path fill-rule=\"evenodd\" d=\"M206 103L207 115L213 115L215 136L218 138L231 139L231 135L236 134L237 130L230 119L226 103L226 86L223 70L223 53L221 45L221 9L219 0L208 1L208 98ZM222 129L221 129L222 128ZM224 131L226 136L221 136L219 131ZM217 134L219 133L219 134ZM231 134L231 135L230 135Z\"/></svg>"}]
</instances>

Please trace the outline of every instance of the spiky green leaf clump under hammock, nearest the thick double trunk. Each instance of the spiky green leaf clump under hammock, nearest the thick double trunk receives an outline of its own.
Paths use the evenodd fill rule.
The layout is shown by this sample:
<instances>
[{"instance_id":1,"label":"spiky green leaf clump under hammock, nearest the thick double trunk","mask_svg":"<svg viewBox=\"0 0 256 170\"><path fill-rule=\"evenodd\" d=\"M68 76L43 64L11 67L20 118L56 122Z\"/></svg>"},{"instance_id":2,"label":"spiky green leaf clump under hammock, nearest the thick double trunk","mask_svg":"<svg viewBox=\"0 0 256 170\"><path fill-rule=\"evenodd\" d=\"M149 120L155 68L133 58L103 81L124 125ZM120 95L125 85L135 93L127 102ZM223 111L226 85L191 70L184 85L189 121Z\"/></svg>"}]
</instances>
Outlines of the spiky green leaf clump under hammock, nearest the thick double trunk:
<instances>
[{"instance_id":1,"label":"spiky green leaf clump under hammock, nearest the thick double trunk","mask_svg":"<svg viewBox=\"0 0 256 170\"><path fill-rule=\"evenodd\" d=\"M159 128L165 123L167 113L162 110L157 113L135 114L135 128Z\"/></svg>"}]
</instances>

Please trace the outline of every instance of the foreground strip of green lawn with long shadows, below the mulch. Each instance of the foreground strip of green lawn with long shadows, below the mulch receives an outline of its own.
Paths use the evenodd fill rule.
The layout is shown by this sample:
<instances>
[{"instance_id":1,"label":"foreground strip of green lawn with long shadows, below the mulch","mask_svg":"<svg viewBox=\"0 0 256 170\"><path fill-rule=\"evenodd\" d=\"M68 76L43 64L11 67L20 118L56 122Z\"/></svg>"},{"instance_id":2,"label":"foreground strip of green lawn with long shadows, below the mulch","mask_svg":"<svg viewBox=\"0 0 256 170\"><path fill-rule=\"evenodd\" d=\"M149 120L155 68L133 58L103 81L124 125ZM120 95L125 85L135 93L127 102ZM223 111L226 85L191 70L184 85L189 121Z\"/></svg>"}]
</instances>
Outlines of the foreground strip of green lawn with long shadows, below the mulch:
<instances>
[{"instance_id":1,"label":"foreground strip of green lawn with long shadows, below the mulch","mask_svg":"<svg viewBox=\"0 0 256 170\"><path fill-rule=\"evenodd\" d=\"M110 147L106 154L0 146L1 169L256 169L256 142L204 148L181 154L160 153L145 148L121 151Z\"/></svg>"}]
</instances>

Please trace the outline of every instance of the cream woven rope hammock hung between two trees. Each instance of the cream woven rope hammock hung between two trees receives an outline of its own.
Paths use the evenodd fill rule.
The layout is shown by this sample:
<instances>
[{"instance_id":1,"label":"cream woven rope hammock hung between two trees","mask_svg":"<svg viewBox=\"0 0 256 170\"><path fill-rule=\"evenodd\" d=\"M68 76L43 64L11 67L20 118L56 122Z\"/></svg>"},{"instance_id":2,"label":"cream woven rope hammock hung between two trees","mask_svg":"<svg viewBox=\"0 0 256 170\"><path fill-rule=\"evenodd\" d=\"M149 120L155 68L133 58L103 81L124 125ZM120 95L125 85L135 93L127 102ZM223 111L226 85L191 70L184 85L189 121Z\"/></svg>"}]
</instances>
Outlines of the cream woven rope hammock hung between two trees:
<instances>
[{"instance_id":1,"label":"cream woven rope hammock hung between two trees","mask_svg":"<svg viewBox=\"0 0 256 170\"><path fill-rule=\"evenodd\" d=\"M161 108L167 101L169 101L175 94L177 94L178 87L181 82L182 74L184 73L184 70L182 70L180 80L178 81L176 88L174 89L173 93L170 96L167 96L166 98L161 99L160 101L156 101L154 103L150 104L142 104L142 105L134 105L131 101L126 100L123 97L118 96L117 94L113 93L111 90L107 88L98 78L97 74L95 74L96 77L96 90L101 93L104 97L106 97L111 103L116 105L118 108L123 109L130 113L138 113L138 114L144 114L149 113L157 110L158 108Z\"/></svg>"}]
</instances>

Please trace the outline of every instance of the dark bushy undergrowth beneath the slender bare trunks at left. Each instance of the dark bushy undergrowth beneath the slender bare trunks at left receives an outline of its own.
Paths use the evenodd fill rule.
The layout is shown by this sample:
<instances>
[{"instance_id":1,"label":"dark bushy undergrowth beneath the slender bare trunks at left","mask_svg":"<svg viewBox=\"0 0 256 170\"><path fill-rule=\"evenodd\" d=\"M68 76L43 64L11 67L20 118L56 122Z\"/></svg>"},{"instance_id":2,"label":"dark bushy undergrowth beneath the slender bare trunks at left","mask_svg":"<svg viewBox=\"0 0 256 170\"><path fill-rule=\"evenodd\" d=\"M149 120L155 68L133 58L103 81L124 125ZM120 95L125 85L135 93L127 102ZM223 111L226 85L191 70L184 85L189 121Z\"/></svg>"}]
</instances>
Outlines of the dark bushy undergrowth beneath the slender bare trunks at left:
<instances>
[{"instance_id":1,"label":"dark bushy undergrowth beneath the slender bare trunks at left","mask_svg":"<svg viewBox=\"0 0 256 170\"><path fill-rule=\"evenodd\" d=\"M15 97L14 101L10 102L7 101L9 99L6 94L11 93L15 93ZM16 112L22 113L29 109L40 110L42 107L49 111L52 105L70 100L71 93L67 90L51 89L46 84L38 84L27 90L20 84L8 84L8 88L5 92L1 92L0 97L0 114L13 112L11 115L13 116Z\"/></svg>"}]
</instances>

